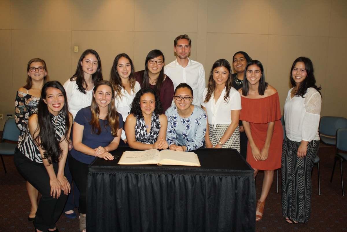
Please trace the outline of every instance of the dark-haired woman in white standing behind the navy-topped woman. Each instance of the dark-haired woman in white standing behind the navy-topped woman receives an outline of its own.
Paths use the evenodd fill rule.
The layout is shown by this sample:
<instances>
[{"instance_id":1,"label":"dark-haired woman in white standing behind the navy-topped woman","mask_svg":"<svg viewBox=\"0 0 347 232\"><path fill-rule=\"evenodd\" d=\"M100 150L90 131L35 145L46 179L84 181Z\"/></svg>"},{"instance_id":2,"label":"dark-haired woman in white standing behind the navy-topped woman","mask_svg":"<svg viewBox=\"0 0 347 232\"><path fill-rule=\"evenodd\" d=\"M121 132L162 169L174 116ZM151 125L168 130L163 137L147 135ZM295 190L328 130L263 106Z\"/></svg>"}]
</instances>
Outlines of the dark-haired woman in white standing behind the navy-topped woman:
<instances>
[{"instance_id":1,"label":"dark-haired woman in white standing behind the navy-topped woman","mask_svg":"<svg viewBox=\"0 0 347 232\"><path fill-rule=\"evenodd\" d=\"M78 60L75 74L65 82L69 111L75 118L77 112L92 104L92 93L96 83L102 80L101 60L98 52L85 50ZM71 133L72 137L72 133ZM69 150L72 148L72 138L70 139ZM66 162L65 175L72 185L72 176L69 169L69 161ZM64 215L67 218L76 218L74 208L78 208L79 190L74 186L73 194L69 195L64 208Z\"/></svg>"}]
</instances>

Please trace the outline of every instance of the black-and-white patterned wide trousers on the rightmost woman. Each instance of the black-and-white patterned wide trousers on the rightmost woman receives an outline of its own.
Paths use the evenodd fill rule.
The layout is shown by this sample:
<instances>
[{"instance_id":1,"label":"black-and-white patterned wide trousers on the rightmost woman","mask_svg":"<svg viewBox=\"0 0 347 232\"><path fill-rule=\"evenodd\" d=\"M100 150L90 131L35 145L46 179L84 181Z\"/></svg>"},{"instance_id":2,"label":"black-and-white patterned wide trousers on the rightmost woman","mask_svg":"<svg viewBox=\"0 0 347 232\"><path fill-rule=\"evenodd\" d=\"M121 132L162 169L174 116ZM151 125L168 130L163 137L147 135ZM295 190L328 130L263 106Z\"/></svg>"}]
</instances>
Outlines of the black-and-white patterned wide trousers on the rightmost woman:
<instances>
[{"instance_id":1,"label":"black-and-white patterned wide trousers on the rightmost woman","mask_svg":"<svg viewBox=\"0 0 347 232\"><path fill-rule=\"evenodd\" d=\"M311 216L311 172L319 141L307 144L306 157L299 158L301 142L285 138L282 146L282 213L296 222L306 223Z\"/></svg>"}]
</instances>

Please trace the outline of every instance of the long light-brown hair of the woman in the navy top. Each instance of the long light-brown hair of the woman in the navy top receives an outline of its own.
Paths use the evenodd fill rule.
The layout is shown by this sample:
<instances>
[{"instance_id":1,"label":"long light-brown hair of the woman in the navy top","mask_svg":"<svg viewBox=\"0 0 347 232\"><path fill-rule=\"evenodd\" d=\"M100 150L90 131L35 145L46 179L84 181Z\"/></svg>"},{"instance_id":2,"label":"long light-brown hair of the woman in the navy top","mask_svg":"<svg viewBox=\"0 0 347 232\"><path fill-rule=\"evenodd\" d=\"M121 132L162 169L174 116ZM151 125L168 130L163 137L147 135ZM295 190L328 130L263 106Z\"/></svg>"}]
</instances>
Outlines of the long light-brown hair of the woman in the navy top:
<instances>
[{"instance_id":1,"label":"long light-brown hair of the woman in the navy top","mask_svg":"<svg viewBox=\"0 0 347 232\"><path fill-rule=\"evenodd\" d=\"M98 90L98 87L101 85L107 85L110 87L111 92L112 92L112 98L111 98L111 102L108 105L108 112L107 112L107 116L105 121L107 123L104 124L105 128L107 127L107 125L109 125L111 127L111 134L112 136L116 136L117 135L117 131L119 129L119 114L116 110L116 106L115 106L115 92L113 91L112 85L109 81L99 81L98 83L96 83L96 85L94 86L94 90L93 90L93 94L96 94L96 91ZM100 110L99 110L99 106L98 103L96 103L95 101L95 97L93 97L92 99L92 105L90 106L91 111L92 111L92 118L91 121L89 122L89 124L92 126L92 132L94 134L99 135L101 133L101 125L100 125L100 121L99 121L99 115L100 115Z\"/></svg>"}]
</instances>

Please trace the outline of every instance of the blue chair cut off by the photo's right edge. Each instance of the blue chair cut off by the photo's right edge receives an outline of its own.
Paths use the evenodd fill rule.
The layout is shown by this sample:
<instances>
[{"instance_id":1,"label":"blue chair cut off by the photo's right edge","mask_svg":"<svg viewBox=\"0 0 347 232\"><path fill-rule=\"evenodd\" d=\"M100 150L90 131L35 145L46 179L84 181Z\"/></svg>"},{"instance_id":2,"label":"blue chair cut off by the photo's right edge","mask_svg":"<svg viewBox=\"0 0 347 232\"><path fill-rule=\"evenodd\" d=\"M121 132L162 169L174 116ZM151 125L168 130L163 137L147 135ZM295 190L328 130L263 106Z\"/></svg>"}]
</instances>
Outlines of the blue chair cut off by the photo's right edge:
<instances>
[{"instance_id":1,"label":"blue chair cut off by the photo's right edge","mask_svg":"<svg viewBox=\"0 0 347 232\"><path fill-rule=\"evenodd\" d=\"M332 176L334 175L336 161L339 160L340 161L340 168L341 168L342 196L345 196L345 194L344 194L344 177L342 175L342 162L347 161L347 154L339 152L339 150L347 152L347 128L340 128L336 131L336 155L335 155L335 162L334 162L334 166L332 168L332 173L331 173L331 178L330 178L330 182L332 182Z\"/></svg>"}]
</instances>

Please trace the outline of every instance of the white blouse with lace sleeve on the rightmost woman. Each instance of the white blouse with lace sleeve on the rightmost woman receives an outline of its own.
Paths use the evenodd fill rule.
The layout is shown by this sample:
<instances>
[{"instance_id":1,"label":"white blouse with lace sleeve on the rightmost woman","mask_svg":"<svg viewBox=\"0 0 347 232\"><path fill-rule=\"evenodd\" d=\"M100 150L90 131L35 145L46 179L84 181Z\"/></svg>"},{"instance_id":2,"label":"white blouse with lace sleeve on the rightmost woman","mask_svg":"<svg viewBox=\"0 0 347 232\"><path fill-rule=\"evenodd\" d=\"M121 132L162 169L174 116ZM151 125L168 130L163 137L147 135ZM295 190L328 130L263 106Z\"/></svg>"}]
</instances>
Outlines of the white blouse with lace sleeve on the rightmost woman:
<instances>
[{"instance_id":1,"label":"white blouse with lace sleeve on the rightmost woman","mask_svg":"<svg viewBox=\"0 0 347 232\"><path fill-rule=\"evenodd\" d=\"M289 90L284 106L286 135L291 141L319 140L318 126L322 97L314 88L308 88L304 97L290 98Z\"/></svg>"}]
</instances>

